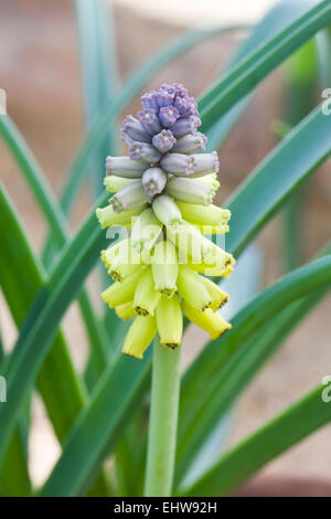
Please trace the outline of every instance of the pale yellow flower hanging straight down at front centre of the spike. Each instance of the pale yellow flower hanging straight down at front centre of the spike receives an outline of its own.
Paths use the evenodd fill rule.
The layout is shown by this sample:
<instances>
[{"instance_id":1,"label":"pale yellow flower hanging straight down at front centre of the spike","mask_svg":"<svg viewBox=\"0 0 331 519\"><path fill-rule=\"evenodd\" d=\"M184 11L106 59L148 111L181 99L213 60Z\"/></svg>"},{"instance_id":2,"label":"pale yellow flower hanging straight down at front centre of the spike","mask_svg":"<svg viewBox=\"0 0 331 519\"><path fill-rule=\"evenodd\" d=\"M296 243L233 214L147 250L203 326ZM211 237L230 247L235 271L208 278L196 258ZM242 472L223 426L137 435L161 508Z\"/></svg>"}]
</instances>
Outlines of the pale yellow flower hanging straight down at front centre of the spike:
<instances>
[{"instance_id":1,"label":"pale yellow flower hanging straight down at front centre of the spike","mask_svg":"<svg viewBox=\"0 0 331 519\"><path fill-rule=\"evenodd\" d=\"M169 241L158 242L151 257L154 289L171 297L177 290L178 260L175 248Z\"/></svg>"}]
</instances>

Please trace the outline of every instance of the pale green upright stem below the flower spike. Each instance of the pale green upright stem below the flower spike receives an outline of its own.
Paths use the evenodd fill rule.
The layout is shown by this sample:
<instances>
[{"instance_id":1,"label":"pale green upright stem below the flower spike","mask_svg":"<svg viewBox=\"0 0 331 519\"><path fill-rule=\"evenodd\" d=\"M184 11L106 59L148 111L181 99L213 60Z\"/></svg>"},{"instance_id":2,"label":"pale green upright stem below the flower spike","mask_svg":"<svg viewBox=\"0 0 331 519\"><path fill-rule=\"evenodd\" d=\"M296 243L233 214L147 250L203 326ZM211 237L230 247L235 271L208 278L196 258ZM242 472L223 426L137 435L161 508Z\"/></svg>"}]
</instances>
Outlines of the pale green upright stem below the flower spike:
<instances>
[{"instance_id":1,"label":"pale green upright stem below the flower spike","mask_svg":"<svg viewBox=\"0 0 331 519\"><path fill-rule=\"evenodd\" d=\"M151 409L145 495L169 497L172 489L180 394L180 348L153 346Z\"/></svg>"}]
</instances>

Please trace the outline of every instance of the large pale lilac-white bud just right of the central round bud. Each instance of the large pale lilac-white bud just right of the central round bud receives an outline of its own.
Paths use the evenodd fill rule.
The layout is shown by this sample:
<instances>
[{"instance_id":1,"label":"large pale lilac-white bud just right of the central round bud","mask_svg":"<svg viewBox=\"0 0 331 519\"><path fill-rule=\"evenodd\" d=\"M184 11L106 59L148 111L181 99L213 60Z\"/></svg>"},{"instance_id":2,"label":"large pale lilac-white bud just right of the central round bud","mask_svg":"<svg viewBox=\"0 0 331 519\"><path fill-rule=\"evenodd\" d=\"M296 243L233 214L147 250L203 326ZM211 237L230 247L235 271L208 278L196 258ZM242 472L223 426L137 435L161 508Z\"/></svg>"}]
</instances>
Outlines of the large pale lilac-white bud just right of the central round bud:
<instances>
[{"instance_id":1,"label":"large pale lilac-white bud just right of the central round bud","mask_svg":"<svg viewBox=\"0 0 331 519\"><path fill-rule=\"evenodd\" d=\"M167 193L186 203L209 205L213 201L215 191L213 187L204 186L192 179L173 178L167 183Z\"/></svg>"}]
</instances>

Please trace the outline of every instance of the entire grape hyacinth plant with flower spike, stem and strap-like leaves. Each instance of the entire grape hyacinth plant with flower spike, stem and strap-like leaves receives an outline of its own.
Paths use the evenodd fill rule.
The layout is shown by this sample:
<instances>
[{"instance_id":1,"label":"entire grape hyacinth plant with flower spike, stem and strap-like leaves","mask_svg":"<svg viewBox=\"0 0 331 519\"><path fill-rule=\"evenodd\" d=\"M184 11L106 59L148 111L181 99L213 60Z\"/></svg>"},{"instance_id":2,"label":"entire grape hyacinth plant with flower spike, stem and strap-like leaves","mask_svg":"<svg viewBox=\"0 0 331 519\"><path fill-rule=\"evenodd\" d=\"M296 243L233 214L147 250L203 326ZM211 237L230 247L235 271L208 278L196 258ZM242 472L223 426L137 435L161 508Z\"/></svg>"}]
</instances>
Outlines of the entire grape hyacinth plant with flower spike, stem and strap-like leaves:
<instances>
[{"instance_id":1,"label":"entire grape hyacinth plant with flower spike, stem and strap-like leaves","mask_svg":"<svg viewBox=\"0 0 331 519\"><path fill-rule=\"evenodd\" d=\"M307 248L309 229L302 226L301 216L316 211L319 200L313 208L307 204L305 182L314 182L323 165L324 184L331 155L328 99L317 95L330 87L325 57L331 2L279 0L254 27L223 24L185 31L164 47L158 44L141 66L131 59L132 72L122 82L111 3L75 2L86 131L60 198L19 130L20 118L12 120L10 110L0 116L8 155L0 187L0 285L1 307L4 304L10 316L1 322L0 333L0 378L6 385L6 399L0 398L0 494L108 500L117 496L122 506L126 497L143 495L167 496L170 505L168 498L177 496L203 497L205 502L213 497L214 501L215 496L243 494L241 487L252 476L331 423L328 377L318 377L299 399L236 444L228 441L226 425L258 371L330 295L331 242L317 250L310 240ZM136 41L141 28L134 23L130 28ZM220 53L205 53L201 45L209 40L211 49L227 45L226 34L238 45L224 68ZM203 87L199 113L180 84L146 93L141 112L124 121L128 151L118 153L118 118L143 86L154 82L157 73L164 74L164 67L180 55L183 61L174 68L184 78L193 54L184 55L194 46L199 49L196 70L215 72L212 84L210 74L199 82ZM222 152L255 92L274 72L277 85L266 96L275 108L270 129L277 142L238 186L239 174L235 174L234 192L223 210L213 205L218 161L209 151ZM70 109L67 99L65 108ZM260 135L263 121L255 119L253 131ZM207 135L207 148L201 128ZM242 134L236 137L237 149L245 158ZM106 160L104 180L107 155L111 157ZM50 165L51 157L52 152ZM19 182L12 182L14 169ZM72 232L71 214L85 180L92 206ZM24 229L31 220L26 208L15 204L21 181L38 208L35 244L41 245L41 231L46 231L42 247L34 246L30 229ZM98 219L96 206L103 208L97 210ZM269 251L268 243L256 239L280 211L275 224L284 240L274 240L275 229L266 230L273 243ZM328 214L323 214L319 222L327 229ZM87 279L103 248L109 274L94 278L92 286ZM312 255L309 261L305 251ZM285 260L285 275L269 285L264 258L275 252ZM236 258L242 255L228 288L232 329L222 318L225 284L218 286L234 268L229 253ZM94 292L99 292L105 278L103 297L111 310L94 304ZM67 316L73 305L78 313ZM86 346L82 354L72 345L77 333L62 327L66 316L79 342L82 333ZM183 335L191 322L207 330L211 340ZM199 351L190 348L193 342L200 343ZM302 354L313 362L325 353L321 335L316 343L318 348L306 348L305 353L309 340L302 342ZM181 366L183 346L185 366ZM286 361L292 369L295 357ZM31 436L35 416L29 402L36 394L61 448L55 463L49 459L52 468L42 478L28 448L35 443ZM43 455L46 462L47 452ZM307 474L310 458L302 460Z\"/></svg>"}]
</instances>

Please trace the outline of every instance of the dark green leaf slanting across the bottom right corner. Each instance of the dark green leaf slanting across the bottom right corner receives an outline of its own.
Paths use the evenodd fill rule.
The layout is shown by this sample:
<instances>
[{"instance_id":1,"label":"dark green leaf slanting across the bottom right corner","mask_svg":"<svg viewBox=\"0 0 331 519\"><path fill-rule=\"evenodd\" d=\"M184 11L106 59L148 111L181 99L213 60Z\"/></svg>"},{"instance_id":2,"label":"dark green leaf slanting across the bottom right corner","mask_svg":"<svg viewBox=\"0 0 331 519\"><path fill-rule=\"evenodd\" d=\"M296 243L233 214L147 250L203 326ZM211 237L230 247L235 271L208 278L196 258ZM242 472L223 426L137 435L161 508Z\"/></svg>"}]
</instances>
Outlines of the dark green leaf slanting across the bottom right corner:
<instances>
[{"instance_id":1,"label":"dark green leaf slanting across the bottom right corner","mask_svg":"<svg viewBox=\"0 0 331 519\"><path fill-rule=\"evenodd\" d=\"M180 496L226 496L252 474L331 421L330 405L318 386L217 462Z\"/></svg>"}]
</instances>

